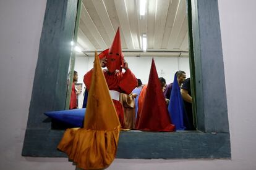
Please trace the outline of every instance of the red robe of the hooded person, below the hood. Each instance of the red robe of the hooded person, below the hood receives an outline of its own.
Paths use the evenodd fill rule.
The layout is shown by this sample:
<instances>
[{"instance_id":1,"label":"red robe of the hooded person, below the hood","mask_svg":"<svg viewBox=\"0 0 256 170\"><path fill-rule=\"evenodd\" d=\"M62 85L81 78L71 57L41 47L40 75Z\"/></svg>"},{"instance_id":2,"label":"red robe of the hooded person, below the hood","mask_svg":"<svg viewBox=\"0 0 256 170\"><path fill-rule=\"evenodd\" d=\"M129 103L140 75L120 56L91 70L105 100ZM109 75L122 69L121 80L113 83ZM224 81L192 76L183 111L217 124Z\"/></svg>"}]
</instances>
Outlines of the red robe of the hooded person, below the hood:
<instances>
[{"instance_id":1,"label":"red robe of the hooded person, below the hood","mask_svg":"<svg viewBox=\"0 0 256 170\"><path fill-rule=\"evenodd\" d=\"M83 83L89 89L90 92L90 84L92 81L92 73L93 69L88 71L85 76L83 76ZM106 83L108 84L108 89L112 91L122 92L125 94L130 94L132 90L137 87L137 79L130 71L130 69L126 70L126 72L122 73L120 71L116 71L113 74L109 74L107 70L103 70L103 74L106 79ZM120 124L124 127L124 110L122 108L122 104L118 100L114 100L114 107L116 108L117 116L119 118Z\"/></svg>"}]
</instances>

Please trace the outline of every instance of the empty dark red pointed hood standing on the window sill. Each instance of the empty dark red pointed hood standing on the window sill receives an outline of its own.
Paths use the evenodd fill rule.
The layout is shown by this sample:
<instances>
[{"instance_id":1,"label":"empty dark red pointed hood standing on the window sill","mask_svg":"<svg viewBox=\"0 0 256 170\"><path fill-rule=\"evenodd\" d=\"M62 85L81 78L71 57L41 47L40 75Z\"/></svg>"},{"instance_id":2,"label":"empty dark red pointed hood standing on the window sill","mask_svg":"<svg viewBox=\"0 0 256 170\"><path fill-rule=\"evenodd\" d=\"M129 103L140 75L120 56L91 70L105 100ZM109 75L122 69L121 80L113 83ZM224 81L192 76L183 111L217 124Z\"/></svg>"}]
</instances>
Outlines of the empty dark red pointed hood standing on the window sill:
<instances>
[{"instance_id":1,"label":"empty dark red pointed hood standing on the window sill","mask_svg":"<svg viewBox=\"0 0 256 170\"><path fill-rule=\"evenodd\" d=\"M144 88L145 87L143 87L143 89ZM152 59L150 76L146 88L145 99L142 103L142 111L139 116L137 129L142 131L175 131L175 126L171 124L171 119L168 114L154 59Z\"/></svg>"}]
</instances>

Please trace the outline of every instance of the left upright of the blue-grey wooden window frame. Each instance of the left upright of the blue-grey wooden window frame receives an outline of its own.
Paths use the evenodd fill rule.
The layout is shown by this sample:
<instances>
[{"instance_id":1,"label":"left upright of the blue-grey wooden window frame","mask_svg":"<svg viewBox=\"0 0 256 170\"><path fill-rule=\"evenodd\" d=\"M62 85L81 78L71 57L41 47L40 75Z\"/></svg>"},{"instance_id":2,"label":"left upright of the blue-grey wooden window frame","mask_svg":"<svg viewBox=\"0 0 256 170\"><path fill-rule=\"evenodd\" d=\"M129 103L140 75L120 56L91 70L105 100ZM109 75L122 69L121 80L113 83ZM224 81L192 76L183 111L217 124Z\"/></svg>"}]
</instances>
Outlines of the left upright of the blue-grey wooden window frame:
<instances>
[{"instance_id":1,"label":"left upright of the blue-grey wooden window frame","mask_svg":"<svg viewBox=\"0 0 256 170\"><path fill-rule=\"evenodd\" d=\"M30 101L28 128L49 128L45 111L64 110L77 0L47 1Z\"/></svg>"}]
</instances>

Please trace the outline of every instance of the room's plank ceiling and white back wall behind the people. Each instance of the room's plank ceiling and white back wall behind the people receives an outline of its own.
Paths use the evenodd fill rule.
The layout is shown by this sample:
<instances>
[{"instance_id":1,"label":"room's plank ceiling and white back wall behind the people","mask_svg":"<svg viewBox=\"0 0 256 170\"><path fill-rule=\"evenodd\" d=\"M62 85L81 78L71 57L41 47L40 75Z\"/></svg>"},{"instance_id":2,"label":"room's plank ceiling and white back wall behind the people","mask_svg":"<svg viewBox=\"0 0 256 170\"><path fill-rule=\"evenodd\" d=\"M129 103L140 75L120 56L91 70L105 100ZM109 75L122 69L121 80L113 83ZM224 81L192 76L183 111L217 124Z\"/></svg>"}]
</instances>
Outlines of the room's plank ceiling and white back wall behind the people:
<instances>
[{"instance_id":1,"label":"room's plank ceiling and white back wall behind the people","mask_svg":"<svg viewBox=\"0 0 256 170\"><path fill-rule=\"evenodd\" d=\"M124 59L136 78L148 83L151 59L159 77L173 83L182 70L190 77L186 1L82 1L77 43L74 44L77 83L82 108L83 75L93 68L94 52L108 49L120 27Z\"/></svg>"}]
</instances>

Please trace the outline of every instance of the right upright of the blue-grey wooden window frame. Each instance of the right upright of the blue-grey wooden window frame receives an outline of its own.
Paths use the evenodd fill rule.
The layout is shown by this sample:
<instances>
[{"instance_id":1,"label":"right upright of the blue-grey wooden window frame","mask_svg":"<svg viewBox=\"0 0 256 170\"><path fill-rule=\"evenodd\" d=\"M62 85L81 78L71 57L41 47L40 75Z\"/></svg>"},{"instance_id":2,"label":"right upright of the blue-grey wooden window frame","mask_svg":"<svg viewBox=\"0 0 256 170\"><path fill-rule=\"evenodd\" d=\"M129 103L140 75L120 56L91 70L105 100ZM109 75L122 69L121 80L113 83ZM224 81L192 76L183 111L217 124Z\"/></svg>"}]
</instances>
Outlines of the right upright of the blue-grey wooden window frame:
<instances>
[{"instance_id":1,"label":"right upright of the blue-grey wooden window frame","mask_svg":"<svg viewBox=\"0 0 256 170\"><path fill-rule=\"evenodd\" d=\"M229 132L228 107L217 0L192 0L197 127Z\"/></svg>"}]
</instances>

